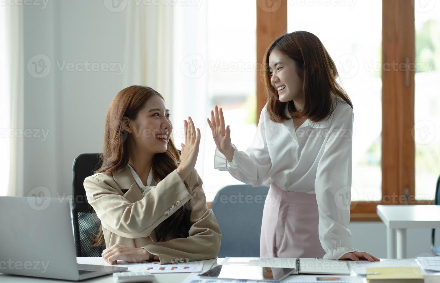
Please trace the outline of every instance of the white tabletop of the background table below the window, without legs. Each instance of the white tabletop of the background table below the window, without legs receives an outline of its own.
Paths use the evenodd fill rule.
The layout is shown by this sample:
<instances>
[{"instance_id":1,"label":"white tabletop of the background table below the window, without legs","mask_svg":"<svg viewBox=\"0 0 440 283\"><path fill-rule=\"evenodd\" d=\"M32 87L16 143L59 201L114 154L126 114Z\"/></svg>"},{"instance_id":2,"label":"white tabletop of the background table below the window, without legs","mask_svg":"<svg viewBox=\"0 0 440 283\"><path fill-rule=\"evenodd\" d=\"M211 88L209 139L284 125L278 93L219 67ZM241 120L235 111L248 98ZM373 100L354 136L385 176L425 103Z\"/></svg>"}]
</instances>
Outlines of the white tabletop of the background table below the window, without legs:
<instances>
[{"instance_id":1,"label":"white tabletop of the background table below the window, without legs","mask_svg":"<svg viewBox=\"0 0 440 283\"><path fill-rule=\"evenodd\" d=\"M380 204L377 213L389 228L440 228L440 205Z\"/></svg>"}]
</instances>

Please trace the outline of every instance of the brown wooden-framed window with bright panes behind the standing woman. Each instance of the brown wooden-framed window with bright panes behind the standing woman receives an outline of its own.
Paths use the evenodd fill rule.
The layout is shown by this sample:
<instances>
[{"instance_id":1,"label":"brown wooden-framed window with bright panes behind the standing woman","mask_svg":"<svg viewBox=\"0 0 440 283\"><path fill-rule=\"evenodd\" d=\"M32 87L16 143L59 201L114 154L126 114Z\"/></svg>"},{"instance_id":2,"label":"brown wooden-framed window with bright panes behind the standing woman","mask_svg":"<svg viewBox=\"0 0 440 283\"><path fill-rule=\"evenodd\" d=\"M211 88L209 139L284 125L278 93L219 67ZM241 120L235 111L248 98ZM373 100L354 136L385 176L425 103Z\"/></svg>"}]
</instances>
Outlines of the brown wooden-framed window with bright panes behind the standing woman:
<instances>
[{"instance_id":1,"label":"brown wooden-framed window with bright panes behind the standing woman","mask_svg":"<svg viewBox=\"0 0 440 283\"><path fill-rule=\"evenodd\" d=\"M334 59L352 99L351 219L378 221L378 203L432 204L440 167L440 5L412 0L276 3L269 7L257 0L264 10L257 9L257 54L286 31L310 31ZM257 82L258 112L264 99Z\"/></svg>"}]
</instances>

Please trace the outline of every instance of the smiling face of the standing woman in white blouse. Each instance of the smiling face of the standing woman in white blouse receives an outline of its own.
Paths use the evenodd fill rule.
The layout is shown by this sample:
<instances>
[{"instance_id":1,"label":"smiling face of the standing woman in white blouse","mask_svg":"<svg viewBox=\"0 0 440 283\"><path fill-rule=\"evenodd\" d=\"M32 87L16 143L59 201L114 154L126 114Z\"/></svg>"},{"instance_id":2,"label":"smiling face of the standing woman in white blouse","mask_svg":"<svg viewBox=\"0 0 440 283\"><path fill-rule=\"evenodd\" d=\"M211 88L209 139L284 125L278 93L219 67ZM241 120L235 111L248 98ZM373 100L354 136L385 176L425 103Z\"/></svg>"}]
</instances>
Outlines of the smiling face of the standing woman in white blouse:
<instances>
[{"instance_id":1,"label":"smiling face of the standing woman in white blouse","mask_svg":"<svg viewBox=\"0 0 440 283\"><path fill-rule=\"evenodd\" d=\"M280 102L301 101L304 98L303 79L298 76L293 59L274 49L269 55L271 85L278 91Z\"/></svg>"}]
</instances>

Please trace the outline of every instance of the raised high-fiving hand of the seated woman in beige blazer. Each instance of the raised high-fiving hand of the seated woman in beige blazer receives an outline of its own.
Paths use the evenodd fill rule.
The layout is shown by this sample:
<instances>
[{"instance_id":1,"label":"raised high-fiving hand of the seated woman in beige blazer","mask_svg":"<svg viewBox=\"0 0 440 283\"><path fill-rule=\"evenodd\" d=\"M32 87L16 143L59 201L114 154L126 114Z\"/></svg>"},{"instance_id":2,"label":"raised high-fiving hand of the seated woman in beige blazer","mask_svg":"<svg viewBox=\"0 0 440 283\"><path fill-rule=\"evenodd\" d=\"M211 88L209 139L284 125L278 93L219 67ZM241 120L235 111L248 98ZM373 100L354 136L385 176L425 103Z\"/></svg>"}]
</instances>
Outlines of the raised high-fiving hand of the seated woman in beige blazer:
<instances>
[{"instance_id":1,"label":"raised high-fiving hand of the seated woman in beige blazer","mask_svg":"<svg viewBox=\"0 0 440 283\"><path fill-rule=\"evenodd\" d=\"M185 128L185 144L180 144L182 145L182 152L180 153L180 164L176 170L180 178L185 180L194 170L197 161L200 130L195 128L191 117L188 117L188 121L183 120L183 127Z\"/></svg>"}]
</instances>

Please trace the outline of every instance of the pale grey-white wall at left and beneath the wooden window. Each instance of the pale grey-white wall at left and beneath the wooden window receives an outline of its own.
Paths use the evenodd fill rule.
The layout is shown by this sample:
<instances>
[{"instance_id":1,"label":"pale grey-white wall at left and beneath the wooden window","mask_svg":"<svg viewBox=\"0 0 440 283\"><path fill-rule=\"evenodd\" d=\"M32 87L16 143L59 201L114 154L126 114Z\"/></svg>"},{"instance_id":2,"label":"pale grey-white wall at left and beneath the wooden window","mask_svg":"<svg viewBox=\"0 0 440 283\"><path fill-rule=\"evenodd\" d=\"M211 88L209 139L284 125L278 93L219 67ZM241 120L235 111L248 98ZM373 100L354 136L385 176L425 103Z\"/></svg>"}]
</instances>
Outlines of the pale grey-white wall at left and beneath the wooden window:
<instances>
[{"instance_id":1,"label":"pale grey-white wall at left and beneath the wooden window","mask_svg":"<svg viewBox=\"0 0 440 283\"><path fill-rule=\"evenodd\" d=\"M25 195L38 186L47 187L54 197L70 194L73 159L84 152L102 152L105 114L112 98L126 87L123 75L59 71L56 61L124 64L125 16L108 11L103 1L49 1L45 9L24 7L25 128L49 131L46 140L25 139ZM51 72L42 79L26 71L36 54L51 60ZM386 257L385 225L352 222L350 229L354 247ZM408 257L429 252L429 229L411 229L407 239Z\"/></svg>"}]
</instances>

